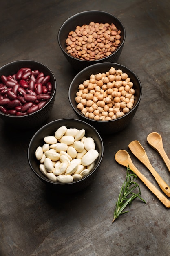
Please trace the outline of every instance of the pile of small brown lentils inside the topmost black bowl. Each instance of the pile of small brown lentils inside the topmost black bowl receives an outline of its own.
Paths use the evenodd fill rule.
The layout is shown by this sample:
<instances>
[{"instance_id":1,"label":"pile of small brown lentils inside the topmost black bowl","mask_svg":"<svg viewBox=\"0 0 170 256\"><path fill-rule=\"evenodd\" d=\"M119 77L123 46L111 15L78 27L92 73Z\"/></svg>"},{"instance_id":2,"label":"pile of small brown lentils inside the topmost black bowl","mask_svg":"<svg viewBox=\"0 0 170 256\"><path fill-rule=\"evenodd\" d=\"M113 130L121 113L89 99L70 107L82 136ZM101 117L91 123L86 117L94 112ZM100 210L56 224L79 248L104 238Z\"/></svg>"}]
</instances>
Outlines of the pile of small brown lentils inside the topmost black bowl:
<instances>
[{"instance_id":1,"label":"pile of small brown lentils inside the topmost black bowl","mask_svg":"<svg viewBox=\"0 0 170 256\"><path fill-rule=\"evenodd\" d=\"M109 56L120 44L121 31L112 23L77 26L66 39L68 54L81 60L93 61Z\"/></svg>"}]
</instances>

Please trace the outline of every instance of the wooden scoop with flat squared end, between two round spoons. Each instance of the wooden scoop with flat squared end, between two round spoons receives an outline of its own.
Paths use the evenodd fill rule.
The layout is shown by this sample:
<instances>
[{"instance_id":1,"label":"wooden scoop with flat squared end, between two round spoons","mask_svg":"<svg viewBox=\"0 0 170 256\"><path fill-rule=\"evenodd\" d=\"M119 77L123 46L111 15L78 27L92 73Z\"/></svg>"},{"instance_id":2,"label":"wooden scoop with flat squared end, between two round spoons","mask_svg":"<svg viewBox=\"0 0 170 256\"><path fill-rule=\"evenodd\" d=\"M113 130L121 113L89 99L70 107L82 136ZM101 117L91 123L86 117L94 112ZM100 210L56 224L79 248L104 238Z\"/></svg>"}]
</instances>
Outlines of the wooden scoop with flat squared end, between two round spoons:
<instances>
[{"instance_id":1,"label":"wooden scoop with flat squared end, between two round spoons","mask_svg":"<svg viewBox=\"0 0 170 256\"><path fill-rule=\"evenodd\" d=\"M149 171L152 173L153 177L157 181L158 185L162 189L162 191L166 195L168 195L168 197L170 197L170 187L161 178L161 176L157 173L157 171L155 171L155 169L153 168L152 164L150 163L148 156L146 155L146 152L145 152L143 146L140 144L140 142L137 140L134 140L134 141L130 142L128 147L130 148L132 153L135 155L135 157L137 157L137 159L139 159L139 161L141 161L149 169Z\"/></svg>"}]
</instances>

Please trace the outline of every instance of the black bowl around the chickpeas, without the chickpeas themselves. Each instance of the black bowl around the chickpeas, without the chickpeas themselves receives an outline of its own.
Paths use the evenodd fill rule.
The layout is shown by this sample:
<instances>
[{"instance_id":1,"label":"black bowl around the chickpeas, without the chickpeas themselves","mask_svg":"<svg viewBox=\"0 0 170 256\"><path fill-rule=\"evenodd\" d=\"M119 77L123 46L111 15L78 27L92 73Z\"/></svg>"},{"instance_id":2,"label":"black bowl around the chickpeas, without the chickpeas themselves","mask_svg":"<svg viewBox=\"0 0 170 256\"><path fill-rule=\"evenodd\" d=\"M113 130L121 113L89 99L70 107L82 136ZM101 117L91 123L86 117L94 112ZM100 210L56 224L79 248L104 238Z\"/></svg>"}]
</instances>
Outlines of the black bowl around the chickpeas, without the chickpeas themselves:
<instances>
[{"instance_id":1,"label":"black bowl around the chickpeas, without the chickpeas themselves","mask_svg":"<svg viewBox=\"0 0 170 256\"><path fill-rule=\"evenodd\" d=\"M79 90L78 89L79 84L81 84L86 79L89 79L91 74L98 74L99 72L106 73L108 70L110 70L111 67L114 67L116 70L121 69L124 73L127 73L128 77L130 77L131 81L134 83L133 88L135 89L135 103L132 109L128 113L126 113L124 116L114 120L110 120L110 121L97 121L97 120L85 117L80 112L80 110L77 109L77 103L75 101L76 92ZM130 123L130 121L132 120L132 118L134 117L137 111L139 102L141 100L141 95L142 95L142 87L141 87L141 82L137 77L137 75L128 67L125 67L117 63L98 63L98 64L91 65L89 67L86 67L84 70L80 71L75 76L68 90L68 99L77 117L87 122L88 124L91 124L91 126L93 126L99 133L104 135L119 132L124 128L126 128L126 126L128 126L128 124Z\"/></svg>"}]
</instances>

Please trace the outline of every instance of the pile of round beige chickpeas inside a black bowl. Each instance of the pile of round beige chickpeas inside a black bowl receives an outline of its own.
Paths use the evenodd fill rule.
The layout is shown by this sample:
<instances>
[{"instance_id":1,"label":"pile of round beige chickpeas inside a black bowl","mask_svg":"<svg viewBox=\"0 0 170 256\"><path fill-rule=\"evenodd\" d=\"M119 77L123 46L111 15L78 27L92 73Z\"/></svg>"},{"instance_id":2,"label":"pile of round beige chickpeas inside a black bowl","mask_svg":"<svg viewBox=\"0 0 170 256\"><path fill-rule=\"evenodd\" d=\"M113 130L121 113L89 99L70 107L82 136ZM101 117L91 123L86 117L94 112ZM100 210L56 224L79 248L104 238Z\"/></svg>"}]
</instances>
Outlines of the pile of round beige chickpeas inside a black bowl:
<instances>
[{"instance_id":1,"label":"pile of round beige chickpeas inside a black bowl","mask_svg":"<svg viewBox=\"0 0 170 256\"><path fill-rule=\"evenodd\" d=\"M75 101L85 117L109 121L122 117L135 102L135 90L128 74L111 67L106 73L91 74L78 86Z\"/></svg>"}]
</instances>

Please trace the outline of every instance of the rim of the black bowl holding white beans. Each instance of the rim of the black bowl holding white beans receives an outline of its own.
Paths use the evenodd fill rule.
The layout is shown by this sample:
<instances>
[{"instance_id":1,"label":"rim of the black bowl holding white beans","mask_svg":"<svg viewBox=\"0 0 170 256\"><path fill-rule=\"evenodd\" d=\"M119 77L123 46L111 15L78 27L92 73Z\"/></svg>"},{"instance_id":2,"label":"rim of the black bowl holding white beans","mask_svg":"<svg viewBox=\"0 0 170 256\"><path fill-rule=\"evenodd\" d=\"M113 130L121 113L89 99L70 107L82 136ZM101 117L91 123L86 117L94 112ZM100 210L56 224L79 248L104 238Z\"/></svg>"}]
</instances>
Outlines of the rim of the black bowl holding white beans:
<instances>
[{"instance_id":1,"label":"rim of the black bowl holding white beans","mask_svg":"<svg viewBox=\"0 0 170 256\"><path fill-rule=\"evenodd\" d=\"M31 145L33 143L33 140L35 139L35 137L38 135L38 133L41 131L41 130L45 130L46 127L48 126L51 126L52 124L55 124L57 122L60 122L60 121L64 121L64 120L69 120L69 121L76 121L78 123L82 123L82 124L86 124L89 126L89 128L91 128L98 136L99 138L99 141L101 143L101 146L102 146L102 152L101 152L101 157L99 159L99 162L97 164L97 166L86 176L86 177L83 177L82 179L80 180L76 180L76 181L73 181L73 182L70 182L70 183L60 183L60 182L54 182L52 180L49 180L48 178L46 178L44 175L40 176L33 168L32 164L31 164L31 161L30 161L30 158L29 158L29 154L30 154L30 150L31 150ZM80 119L74 119L74 118L62 118L62 119L56 119L56 120L53 120L47 124L45 124L44 126L42 126L39 130L37 130L35 132L35 134L33 135L33 137L31 138L31 141L29 142L29 146L28 146L28 150L27 150L27 159L28 159L28 162L29 162L29 166L31 167L32 171L35 173L36 176L39 177L40 180L44 181L45 183L49 183L49 184L53 184L53 185L59 185L59 186L64 186L64 185L69 185L69 186L73 186L73 184L77 184L79 182L82 182L83 180L85 180L87 177L90 177L95 171L96 169L99 167L99 165L101 164L102 162L102 159L103 159L103 156L104 156L104 143L103 143L103 140L102 140L102 137L101 135L99 134L99 132L93 127L91 126L91 124L88 124L86 123L85 121L82 121ZM43 177L44 176L44 177Z\"/></svg>"}]
</instances>

